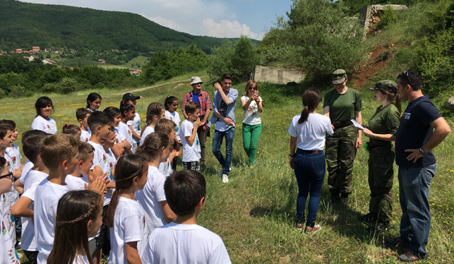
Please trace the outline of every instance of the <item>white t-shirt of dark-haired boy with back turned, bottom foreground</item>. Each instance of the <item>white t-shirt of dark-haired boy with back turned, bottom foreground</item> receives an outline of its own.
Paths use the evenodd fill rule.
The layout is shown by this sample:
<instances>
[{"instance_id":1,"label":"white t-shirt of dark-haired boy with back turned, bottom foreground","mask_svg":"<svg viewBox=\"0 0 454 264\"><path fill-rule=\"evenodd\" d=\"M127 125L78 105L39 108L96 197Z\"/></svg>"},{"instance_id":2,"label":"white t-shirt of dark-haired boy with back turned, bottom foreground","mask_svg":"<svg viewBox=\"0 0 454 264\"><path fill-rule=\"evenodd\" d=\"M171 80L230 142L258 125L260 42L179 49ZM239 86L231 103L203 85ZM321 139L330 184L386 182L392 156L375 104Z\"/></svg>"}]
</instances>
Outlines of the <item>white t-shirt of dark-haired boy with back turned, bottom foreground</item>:
<instances>
[{"instance_id":1,"label":"white t-shirt of dark-haired boy with back turned, bottom foreground","mask_svg":"<svg viewBox=\"0 0 454 264\"><path fill-rule=\"evenodd\" d=\"M224 242L198 224L166 224L150 234L143 264L232 263Z\"/></svg>"}]
</instances>

